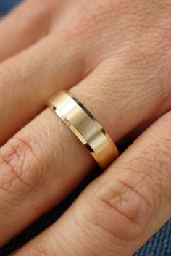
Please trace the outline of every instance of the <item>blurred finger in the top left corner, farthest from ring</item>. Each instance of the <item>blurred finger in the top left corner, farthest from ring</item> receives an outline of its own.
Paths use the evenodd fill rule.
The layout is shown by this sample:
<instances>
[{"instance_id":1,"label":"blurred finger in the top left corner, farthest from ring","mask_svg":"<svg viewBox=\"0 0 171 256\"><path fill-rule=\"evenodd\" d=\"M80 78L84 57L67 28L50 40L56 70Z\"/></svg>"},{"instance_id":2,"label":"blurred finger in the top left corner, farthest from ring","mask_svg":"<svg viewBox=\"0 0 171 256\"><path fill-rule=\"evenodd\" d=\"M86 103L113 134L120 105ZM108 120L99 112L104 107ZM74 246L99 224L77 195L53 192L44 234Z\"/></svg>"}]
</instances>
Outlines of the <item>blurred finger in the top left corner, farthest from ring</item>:
<instances>
[{"instance_id":1,"label":"blurred finger in the top left corner, farthest from ring","mask_svg":"<svg viewBox=\"0 0 171 256\"><path fill-rule=\"evenodd\" d=\"M59 1L23 1L0 21L0 61L49 33ZM30 12L31 10L31 12Z\"/></svg>"}]
</instances>

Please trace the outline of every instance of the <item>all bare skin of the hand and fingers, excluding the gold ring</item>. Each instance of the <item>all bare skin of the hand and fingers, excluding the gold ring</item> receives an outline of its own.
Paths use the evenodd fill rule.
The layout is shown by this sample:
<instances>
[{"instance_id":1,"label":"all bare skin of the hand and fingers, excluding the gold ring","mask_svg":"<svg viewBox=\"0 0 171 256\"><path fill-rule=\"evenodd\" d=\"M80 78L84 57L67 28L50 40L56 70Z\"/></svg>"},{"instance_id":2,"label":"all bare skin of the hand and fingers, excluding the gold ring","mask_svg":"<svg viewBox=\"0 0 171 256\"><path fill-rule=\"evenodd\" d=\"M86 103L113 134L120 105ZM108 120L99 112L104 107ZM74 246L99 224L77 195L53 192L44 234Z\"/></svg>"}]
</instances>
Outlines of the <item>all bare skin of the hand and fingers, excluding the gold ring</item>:
<instances>
[{"instance_id":1,"label":"all bare skin of the hand and fingers, excluding the gold ring","mask_svg":"<svg viewBox=\"0 0 171 256\"><path fill-rule=\"evenodd\" d=\"M70 89L116 143L146 130L12 255L129 256L171 217L170 14L169 0L27 0L1 19L1 247L95 164L44 110L51 94Z\"/></svg>"}]
</instances>

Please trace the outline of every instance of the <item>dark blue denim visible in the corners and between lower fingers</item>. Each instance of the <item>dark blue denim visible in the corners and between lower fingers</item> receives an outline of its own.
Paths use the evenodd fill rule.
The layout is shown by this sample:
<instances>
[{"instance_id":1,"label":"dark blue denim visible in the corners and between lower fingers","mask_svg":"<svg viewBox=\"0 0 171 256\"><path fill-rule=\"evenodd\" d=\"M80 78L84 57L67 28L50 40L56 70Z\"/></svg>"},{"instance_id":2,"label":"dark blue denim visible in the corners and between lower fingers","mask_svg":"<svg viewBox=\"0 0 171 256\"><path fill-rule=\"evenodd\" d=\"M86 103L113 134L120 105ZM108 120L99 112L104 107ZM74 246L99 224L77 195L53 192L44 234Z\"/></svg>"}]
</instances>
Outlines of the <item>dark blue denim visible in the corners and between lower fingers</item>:
<instances>
[{"instance_id":1,"label":"dark blue denim visible in the corners and between lower fingers","mask_svg":"<svg viewBox=\"0 0 171 256\"><path fill-rule=\"evenodd\" d=\"M14 7L20 0L0 0L0 15L4 15ZM51 1L51 0L49 0ZM99 175L99 170L93 172L86 178L85 181L70 194L70 197L64 200L60 205L55 207L49 213L37 220L33 225L27 228L19 236L13 239L4 248L0 249L0 256L7 256L10 252L20 247L26 241L36 236L43 229L54 223L60 215L72 204L73 200L78 197L81 190L93 178ZM26 256L26 255L23 255ZM171 256L171 220L169 220L138 252L133 256Z\"/></svg>"}]
</instances>

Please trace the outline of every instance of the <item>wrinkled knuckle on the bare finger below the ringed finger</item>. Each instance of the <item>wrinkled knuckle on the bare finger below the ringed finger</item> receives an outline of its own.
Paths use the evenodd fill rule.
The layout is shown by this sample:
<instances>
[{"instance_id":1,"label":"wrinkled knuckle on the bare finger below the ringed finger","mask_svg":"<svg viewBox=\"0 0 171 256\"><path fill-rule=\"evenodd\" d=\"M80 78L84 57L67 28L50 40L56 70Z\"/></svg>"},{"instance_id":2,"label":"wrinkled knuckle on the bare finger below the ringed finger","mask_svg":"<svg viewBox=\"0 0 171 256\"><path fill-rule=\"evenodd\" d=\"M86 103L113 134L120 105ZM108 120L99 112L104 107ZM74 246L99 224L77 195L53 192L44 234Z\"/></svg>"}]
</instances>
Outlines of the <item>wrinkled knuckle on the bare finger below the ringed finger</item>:
<instances>
[{"instance_id":1,"label":"wrinkled knuckle on the bare finger below the ringed finger","mask_svg":"<svg viewBox=\"0 0 171 256\"><path fill-rule=\"evenodd\" d=\"M131 176L132 175L132 176ZM143 235L153 215L151 188L141 176L132 173L129 178L114 178L102 184L88 199L91 210L88 220L120 241L133 241ZM134 180L135 183L131 183ZM148 196L147 196L148 195Z\"/></svg>"}]
</instances>

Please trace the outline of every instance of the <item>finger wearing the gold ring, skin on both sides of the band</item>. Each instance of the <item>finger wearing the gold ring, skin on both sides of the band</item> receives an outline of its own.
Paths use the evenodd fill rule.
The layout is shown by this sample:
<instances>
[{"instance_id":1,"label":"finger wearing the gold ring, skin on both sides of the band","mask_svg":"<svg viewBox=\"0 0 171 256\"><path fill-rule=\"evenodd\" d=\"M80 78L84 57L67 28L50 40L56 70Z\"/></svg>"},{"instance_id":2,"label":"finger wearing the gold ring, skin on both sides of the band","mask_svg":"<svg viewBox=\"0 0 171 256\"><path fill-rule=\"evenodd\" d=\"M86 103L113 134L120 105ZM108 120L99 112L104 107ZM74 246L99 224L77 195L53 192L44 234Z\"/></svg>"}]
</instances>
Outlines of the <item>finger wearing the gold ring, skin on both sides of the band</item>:
<instances>
[{"instance_id":1,"label":"finger wearing the gold ring, skin on both sides of the band","mask_svg":"<svg viewBox=\"0 0 171 256\"><path fill-rule=\"evenodd\" d=\"M119 63L117 59L114 67L108 59L71 90L114 141L170 108L170 102L164 101L164 94L161 96L157 80L155 86L146 83L145 90L144 83L137 85L137 80L141 81L137 75L131 73L130 80L130 65ZM113 68L117 76L109 80ZM163 86L170 94L170 86ZM162 109L156 107L161 103ZM1 244L67 196L93 164L84 146L49 109L10 139L1 148Z\"/></svg>"}]
</instances>

